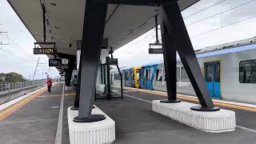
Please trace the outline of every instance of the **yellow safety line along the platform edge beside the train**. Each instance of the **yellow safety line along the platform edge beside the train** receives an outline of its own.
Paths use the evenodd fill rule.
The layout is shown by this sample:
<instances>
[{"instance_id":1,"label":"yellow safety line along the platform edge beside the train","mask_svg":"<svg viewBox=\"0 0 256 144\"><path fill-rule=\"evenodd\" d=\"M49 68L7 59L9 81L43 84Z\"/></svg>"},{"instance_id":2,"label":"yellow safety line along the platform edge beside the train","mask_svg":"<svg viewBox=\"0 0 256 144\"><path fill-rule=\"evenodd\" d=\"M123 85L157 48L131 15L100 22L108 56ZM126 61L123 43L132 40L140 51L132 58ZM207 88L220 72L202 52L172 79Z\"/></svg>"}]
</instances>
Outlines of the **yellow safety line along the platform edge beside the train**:
<instances>
[{"instance_id":1,"label":"yellow safety line along the platform edge beside the train","mask_svg":"<svg viewBox=\"0 0 256 144\"><path fill-rule=\"evenodd\" d=\"M148 94L158 94L160 96L167 97L167 94L165 92L161 92L161 91L143 90L143 89L136 89L136 88L131 88L131 87L124 87L124 89L132 90L132 91L137 90L137 91L148 93ZM198 98L196 98L196 97L188 98L188 96L183 95L183 94L177 94L177 98L179 98L181 100L190 101L190 102L199 102ZM241 105L237 105L237 104L224 103L224 102L214 102L214 105L228 107L228 108L237 109L237 110L246 110L246 111L250 111L250 112L256 112L256 108L250 107L250 106L241 106Z\"/></svg>"}]
</instances>

